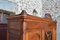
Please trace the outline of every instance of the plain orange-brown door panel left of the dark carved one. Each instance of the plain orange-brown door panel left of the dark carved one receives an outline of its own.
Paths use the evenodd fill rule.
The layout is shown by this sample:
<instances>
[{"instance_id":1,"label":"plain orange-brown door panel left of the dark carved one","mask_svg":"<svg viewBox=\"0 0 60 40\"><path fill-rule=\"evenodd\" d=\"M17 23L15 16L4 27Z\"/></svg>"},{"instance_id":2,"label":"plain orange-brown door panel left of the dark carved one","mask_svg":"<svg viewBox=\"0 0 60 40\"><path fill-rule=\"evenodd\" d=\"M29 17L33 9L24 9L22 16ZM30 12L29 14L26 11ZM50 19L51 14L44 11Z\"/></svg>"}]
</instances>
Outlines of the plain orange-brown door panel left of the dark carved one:
<instances>
[{"instance_id":1,"label":"plain orange-brown door panel left of the dark carved one","mask_svg":"<svg viewBox=\"0 0 60 40\"><path fill-rule=\"evenodd\" d=\"M38 33L27 32L26 40L40 40L40 35Z\"/></svg>"}]
</instances>

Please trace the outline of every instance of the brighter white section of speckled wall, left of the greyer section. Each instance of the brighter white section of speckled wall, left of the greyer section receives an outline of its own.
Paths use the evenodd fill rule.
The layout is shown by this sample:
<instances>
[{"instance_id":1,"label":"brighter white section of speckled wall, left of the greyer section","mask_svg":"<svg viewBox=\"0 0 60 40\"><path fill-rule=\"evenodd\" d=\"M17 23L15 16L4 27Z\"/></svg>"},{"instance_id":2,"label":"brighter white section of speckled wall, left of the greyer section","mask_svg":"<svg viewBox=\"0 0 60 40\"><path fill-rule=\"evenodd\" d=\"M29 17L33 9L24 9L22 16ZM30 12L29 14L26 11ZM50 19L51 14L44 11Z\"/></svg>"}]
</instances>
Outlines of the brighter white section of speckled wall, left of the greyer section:
<instances>
[{"instance_id":1,"label":"brighter white section of speckled wall, left of the greyer section","mask_svg":"<svg viewBox=\"0 0 60 40\"><path fill-rule=\"evenodd\" d=\"M12 0L10 0L12 1ZM18 5L18 11L17 14L19 14L22 10L26 10L28 14L33 15L33 10L35 9L37 11L37 16L41 17L42 14L42 0L15 0L12 1L14 3L17 3Z\"/></svg>"}]
</instances>

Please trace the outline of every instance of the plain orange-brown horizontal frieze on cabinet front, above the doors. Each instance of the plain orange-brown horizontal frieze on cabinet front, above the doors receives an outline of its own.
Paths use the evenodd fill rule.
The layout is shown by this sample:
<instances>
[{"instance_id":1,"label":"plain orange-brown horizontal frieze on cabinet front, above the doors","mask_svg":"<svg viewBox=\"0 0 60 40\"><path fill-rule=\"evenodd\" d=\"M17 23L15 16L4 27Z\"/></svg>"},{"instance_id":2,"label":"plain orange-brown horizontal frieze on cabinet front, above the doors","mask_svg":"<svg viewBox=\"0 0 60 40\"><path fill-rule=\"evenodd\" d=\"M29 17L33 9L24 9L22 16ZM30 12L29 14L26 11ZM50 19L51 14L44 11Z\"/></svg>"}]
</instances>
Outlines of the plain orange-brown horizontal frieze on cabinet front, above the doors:
<instances>
[{"instance_id":1,"label":"plain orange-brown horizontal frieze on cabinet front, above the doors","mask_svg":"<svg viewBox=\"0 0 60 40\"><path fill-rule=\"evenodd\" d=\"M45 28L45 27L48 27L48 23L46 23L46 22L29 21L29 22L27 22L26 28L27 29L38 29L38 28Z\"/></svg>"}]
</instances>

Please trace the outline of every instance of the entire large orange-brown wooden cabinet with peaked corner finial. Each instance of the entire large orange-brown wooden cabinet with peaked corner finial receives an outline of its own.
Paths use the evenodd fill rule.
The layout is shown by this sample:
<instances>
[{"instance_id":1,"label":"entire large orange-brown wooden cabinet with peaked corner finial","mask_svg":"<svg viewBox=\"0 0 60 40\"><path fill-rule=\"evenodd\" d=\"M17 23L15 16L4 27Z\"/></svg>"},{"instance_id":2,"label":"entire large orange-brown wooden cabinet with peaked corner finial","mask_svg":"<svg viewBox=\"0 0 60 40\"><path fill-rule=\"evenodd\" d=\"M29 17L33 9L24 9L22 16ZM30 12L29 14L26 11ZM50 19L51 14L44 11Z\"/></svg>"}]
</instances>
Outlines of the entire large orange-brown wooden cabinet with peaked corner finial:
<instances>
[{"instance_id":1,"label":"entire large orange-brown wooden cabinet with peaked corner finial","mask_svg":"<svg viewBox=\"0 0 60 40\"><path fill-rule=\"evenodd\" d=\"M22 11L8 17L7 40L56 40L56 21Z\"/></svg>"}]
</instances>

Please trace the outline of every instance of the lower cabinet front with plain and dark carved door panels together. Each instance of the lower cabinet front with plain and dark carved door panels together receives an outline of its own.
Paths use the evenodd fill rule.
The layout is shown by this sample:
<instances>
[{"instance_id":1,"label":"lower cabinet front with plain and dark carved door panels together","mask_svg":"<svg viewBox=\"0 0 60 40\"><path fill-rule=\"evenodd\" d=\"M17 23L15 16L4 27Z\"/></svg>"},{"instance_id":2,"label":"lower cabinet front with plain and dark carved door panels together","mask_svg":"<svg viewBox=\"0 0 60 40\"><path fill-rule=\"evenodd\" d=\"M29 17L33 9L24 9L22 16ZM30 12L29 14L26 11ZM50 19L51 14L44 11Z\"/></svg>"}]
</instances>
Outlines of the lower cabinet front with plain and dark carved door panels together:
<instances>
[{"instance_id":1,"label":"lower cabinet front with plain and dark carved door panels together","mask_svg":"<svg viewBox=\"0 0 60 40\"><path fill-rule=\"evenodd\" d=\"M39 32L26 32L25 40L53 40L53 32L41 30Z\"/></svg>"}]
</instances>

